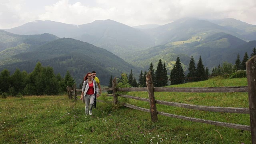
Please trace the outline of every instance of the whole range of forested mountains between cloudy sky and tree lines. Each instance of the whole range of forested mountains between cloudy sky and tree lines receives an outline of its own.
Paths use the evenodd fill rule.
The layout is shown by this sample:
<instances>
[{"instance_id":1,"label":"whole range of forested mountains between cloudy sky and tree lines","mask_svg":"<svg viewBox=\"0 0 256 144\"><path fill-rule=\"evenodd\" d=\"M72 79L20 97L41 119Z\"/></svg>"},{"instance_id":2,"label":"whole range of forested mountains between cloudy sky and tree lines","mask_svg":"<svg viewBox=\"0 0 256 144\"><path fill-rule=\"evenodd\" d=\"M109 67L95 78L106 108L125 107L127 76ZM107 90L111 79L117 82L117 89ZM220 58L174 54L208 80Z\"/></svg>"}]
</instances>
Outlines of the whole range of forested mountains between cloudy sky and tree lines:
<instances>
[{"instance_id":1,"label":"whole range of forested mountains between cloudy sky and tree lines","mask_svg":"<svg viewBox=\"0 0 256 144\"><path fill-rule=\"evenodd\" d=\"M65 41L73 45L66 48ZM140 69L148 69L151 62L156 66L159 59L171 69L177 56L186 69L190 56L196 61L201 56L204 65L211 69L224 61L234 64L237 54L240 54L240 58L245 52L250 55L256 47L256 25L232 18L182 18L162 26L151 24L134 27L113 20L96 20L82 25L36 20L16 28L0 30L0 66L8 65L10 68L15 62L33 60L49 63L48 60L67 56L68 50L71 53L78 51L72 55L76 57L84 52L82 45L97 50L104 48L106 52L100 49L102 55L98 58L109 54L108 58L103 58L104 62L95 60L97 65L106 68L106 71L110 70L110 73L113 72L111 68L115 68L114 64L104 66L98 62L105 63L114 58L113 63L122 63L117 68L118 72L129 72L130 69L139 72ZM62 47L65 49L62 50ZM42 55L36 54L38 52ZM79 62L78 57L69 58L63 63L74 59L75 63Z\"/></svg>"}]
</instances>

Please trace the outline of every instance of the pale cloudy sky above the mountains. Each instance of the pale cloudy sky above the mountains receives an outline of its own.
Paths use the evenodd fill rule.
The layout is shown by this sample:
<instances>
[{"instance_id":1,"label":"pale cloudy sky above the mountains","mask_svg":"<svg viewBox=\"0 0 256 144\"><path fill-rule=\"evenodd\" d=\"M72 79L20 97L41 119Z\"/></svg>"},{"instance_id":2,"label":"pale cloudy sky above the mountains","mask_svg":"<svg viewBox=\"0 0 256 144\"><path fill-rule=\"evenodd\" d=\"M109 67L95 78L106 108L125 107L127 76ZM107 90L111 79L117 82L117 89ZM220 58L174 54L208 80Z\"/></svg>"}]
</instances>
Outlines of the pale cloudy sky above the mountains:
<instances>
[{"instance_id":1,"label":"pale cloudy sky above the mountains","mask_svg":"<svg viewBox=\"0 0 256 144\"><path fill-rule=\"evenodd\" d=\"M87 24L111 19L128 26L180 18L234 18L256 25L256 0L0 0L0 29L35 20Z\"/></svg>"}]
</instances>

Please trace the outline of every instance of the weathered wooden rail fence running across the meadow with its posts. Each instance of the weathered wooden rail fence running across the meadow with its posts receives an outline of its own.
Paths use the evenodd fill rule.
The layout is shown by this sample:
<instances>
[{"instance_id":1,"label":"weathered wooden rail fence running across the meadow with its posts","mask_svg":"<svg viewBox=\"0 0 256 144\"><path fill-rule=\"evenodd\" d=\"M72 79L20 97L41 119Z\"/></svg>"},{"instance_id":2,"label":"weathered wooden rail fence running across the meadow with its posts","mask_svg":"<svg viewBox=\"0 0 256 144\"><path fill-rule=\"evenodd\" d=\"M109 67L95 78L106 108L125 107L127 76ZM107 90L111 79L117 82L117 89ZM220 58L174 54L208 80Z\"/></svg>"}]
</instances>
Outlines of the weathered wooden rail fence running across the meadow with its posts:
<instances>
[{"instance_id":1,"label":"weathered wooden rail fence running across the meadow with its posts","mask_svg":"<svg viewBox=\"0 0 256 144\"><path fill-rule=\"evenodd\" d=\"M172 118L180 118L183 120L189 120L192 122L201 122L206 124L212 124L217 126L224 126L228 128L236 128L240 130L248 130L251 131L252 136L252 144L256 144L256 57L252 57L250 60L246 62L247 69L247 81L248 86L232 86L232 87L208 87L208 88L154 88L151 73L148 72L146 74L146 88L116 88L116 77L113 79L113 87L112 88L102 88L102 90L113 90L113 103L118 103L118 96L123 98L131 98L135 100L141 100L145 102L149 102L150 109L141 108L138 106L134 106L131 104L123 104L126 107L133 108L136 110L141 110L144 112L150 112L151 120L158 120L157 115L168 116ZM255 70L255 71L254 71ZM72 90L67 87L69 98L72 98L72 93L74 95L74 99L76 99L76 92L81 92L82 90L76 89L74 85ZM140 98L135 96L128 95L117 95L118 91L124 92L148 92L147 98ZM162 100L155 100L154 92L248 92L249 97L249 108L230 108L230 107L215 107L215 106L198 106L193 104L184 104L178 102L166 102ZM97 100L98 101L98 100ZM99 100L100 101L100 100ZM175 106L180 108L188 108L193 110L204 110L209 112L228 112L228 113L238 113L238 114L250 114L250 126L241 125L241 124L232 124L226 122L217 122L212 120L204 120L200 118L191 118L186 116L180 116L175 114L169 114L165 112L158 112L156 109L156 104L163 104L167 106Z\"/></svg>"}]
</instances>

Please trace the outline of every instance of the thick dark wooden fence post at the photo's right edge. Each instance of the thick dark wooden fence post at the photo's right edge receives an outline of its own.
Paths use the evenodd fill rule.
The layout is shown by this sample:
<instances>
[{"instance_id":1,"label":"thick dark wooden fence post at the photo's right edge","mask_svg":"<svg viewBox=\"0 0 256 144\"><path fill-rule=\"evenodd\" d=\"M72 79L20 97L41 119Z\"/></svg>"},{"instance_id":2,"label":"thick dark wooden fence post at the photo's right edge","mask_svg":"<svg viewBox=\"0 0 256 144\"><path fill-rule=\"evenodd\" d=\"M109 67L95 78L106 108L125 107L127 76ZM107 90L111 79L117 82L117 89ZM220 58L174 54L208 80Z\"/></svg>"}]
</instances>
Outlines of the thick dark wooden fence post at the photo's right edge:
<instances>
[{"instance_id":1,"label":"thick dark wooden fence post at the photo's right edge","mask_svg":"<svg viewBox=\"0 0 256 144\"><path fill-rule=\"evenodd\" d=\"M252 144L256 144L256 56L246 62Z\"/></svg>"}]
</instances>

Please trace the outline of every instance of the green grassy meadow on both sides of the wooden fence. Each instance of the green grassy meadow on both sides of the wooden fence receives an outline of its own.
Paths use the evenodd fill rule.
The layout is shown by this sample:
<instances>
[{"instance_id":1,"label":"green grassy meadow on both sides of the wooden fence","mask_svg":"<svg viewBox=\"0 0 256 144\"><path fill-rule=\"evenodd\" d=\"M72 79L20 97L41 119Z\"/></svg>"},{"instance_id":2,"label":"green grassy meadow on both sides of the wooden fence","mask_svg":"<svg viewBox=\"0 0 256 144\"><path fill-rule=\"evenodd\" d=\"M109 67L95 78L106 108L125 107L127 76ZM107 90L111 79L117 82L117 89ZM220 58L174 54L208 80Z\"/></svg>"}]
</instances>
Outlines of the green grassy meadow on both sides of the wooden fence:
<instances>
[{"instance_id":1,"label":"green grassy meadow on both sides of the wooden fence","mask_svg":"<svg viewBox=\"0 0 256 144\"><path fill-rule=\"evenodd\" d=\"M246 78L212 78L170 87L246 86ZM128 95L148 98L147 92ZM156 100L204 106L248 108L248 93L155 92ZM99 100L112 101L102 94ZM149 108L147 102L118 98ZM0 144L250 144L249 131L225 128L158 115L122 105L97 103L92 116L85 115L85 104L67 95L23 96L0 99ZM249 114L204 112L157 104L157 110L206 120L250 125Z\"/></svg>"}]
</instances>

